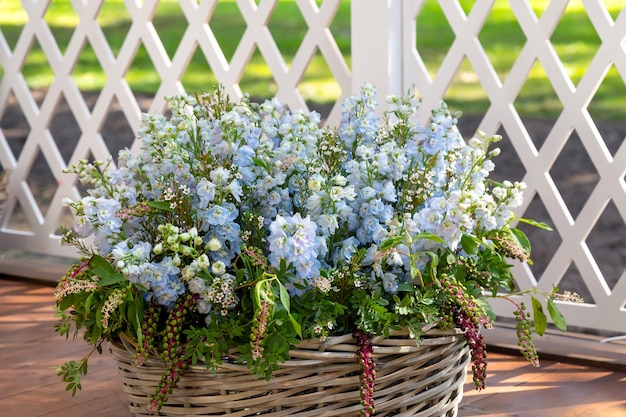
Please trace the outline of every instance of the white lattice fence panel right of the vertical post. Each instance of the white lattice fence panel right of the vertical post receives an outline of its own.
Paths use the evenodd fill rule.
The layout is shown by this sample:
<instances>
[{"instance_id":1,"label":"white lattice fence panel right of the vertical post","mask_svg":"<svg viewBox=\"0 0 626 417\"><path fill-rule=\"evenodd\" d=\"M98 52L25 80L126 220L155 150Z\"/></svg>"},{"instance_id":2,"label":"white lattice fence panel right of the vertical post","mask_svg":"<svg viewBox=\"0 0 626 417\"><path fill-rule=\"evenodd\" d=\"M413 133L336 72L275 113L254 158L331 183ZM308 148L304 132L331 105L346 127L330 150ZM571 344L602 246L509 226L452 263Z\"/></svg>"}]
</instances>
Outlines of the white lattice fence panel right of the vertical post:
<instances>
[{"instance_id":1,"label":"white lattice fence panel right of the vertical post","mask_svg":"<svg viewBox=\"0 0 626 417\"><path fill-rule=\"evenodd\" d=\"M604 231L605 237L614 239L614 233L623 233L623 223L626 219L624 183L626 143L622 141L621 146L612 155L587 109L611 65L617 68L622 79L626 79L624 44L626 12L622 11L613 21L602 1L582 2L589 20L601 39L601 46L585 74L578 84L574 85L550 43L552 33L570 2L568 0L546 2L547 7L541 17L537 18L528 2L509 1L508 5L527 41L502 82L479 40L481 29L496 1L477 1L468 14L455 1L438 2L455 33L455 39L434 77L431 77L415 42L415 21L425 3L426 1L405 0L402 13L402 27L405 28L404 81L406 85L416 87L423 98L421 116L426 117L439 100L445 97L446 91L458 75L461 64L467 59L490 102L479 129L487 134L500 132L507 136L525 168L523 180L528 184L528 189L522 212L529 207L533 196L535 200L539 198L548 214L546 220L555 229L553 233L557 233L561 238L554 255L542 268L540 276L535 276L531 268L521 266L516 268L519 286L529 288L537 285L549 291L556 285L579 290L587 295L587 302L583 305L563 306L570 324L626 331L626 265L623 263L617 265L618 269L621 266L621 275L617 282L609 285L586 242L610 201L614 203L621 218L617 219L618 224L614 229ZM545 69L548 80L563 106L556 123L539 149L535 146L528 127L520 119L515 105L515 100L535 62L539 62ZM584 145L581 152L589 154L599 177L598 183L575 218L564 202L551 174L555 160L574 131ZM497 163L496 159L496 165ZM536 239L545 238L541 233L535 233L533 236ZM626 243L626 235L618 236L617 240L621 240L623 246ZM619 259L620 249L613 250ZM606 258L604 255L604 259ZM572 275L572 265L575 265L578 272L573 278L569 277ZM503 303L502 309L498 312L508 314L508 311L510 305Z\"/></svg>"}]
</instances>

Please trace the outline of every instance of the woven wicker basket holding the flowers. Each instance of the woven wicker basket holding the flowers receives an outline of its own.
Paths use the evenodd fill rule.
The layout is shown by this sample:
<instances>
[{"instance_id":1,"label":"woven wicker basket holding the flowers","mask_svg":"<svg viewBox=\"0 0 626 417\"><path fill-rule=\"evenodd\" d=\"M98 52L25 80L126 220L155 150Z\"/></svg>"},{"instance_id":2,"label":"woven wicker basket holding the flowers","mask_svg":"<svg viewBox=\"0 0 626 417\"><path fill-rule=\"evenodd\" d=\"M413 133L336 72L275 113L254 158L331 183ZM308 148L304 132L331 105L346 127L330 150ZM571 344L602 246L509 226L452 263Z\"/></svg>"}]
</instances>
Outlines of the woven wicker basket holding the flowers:
<instances>
[{"instance_id":1,"label":"woven wicker basket holding the flowers","mask_svg":"<svg viewBox=\"0 0 626 417\"><path fill-rule=\"evenodd\" d=\"M376 416L456 416L470 360L460 331L430 330L419 347L406 334L374 339ZM225 363L216 374L192 366L169 395L162 416L358 416L359 365L351 335L306 340L269 381L245 365ZM164 372L158 359L134 365L133 353L111 344L133 415L147 405Z\"/></svg>"}]
</instances>

